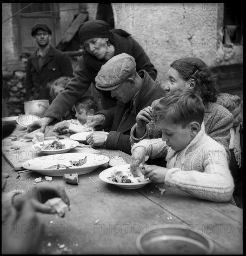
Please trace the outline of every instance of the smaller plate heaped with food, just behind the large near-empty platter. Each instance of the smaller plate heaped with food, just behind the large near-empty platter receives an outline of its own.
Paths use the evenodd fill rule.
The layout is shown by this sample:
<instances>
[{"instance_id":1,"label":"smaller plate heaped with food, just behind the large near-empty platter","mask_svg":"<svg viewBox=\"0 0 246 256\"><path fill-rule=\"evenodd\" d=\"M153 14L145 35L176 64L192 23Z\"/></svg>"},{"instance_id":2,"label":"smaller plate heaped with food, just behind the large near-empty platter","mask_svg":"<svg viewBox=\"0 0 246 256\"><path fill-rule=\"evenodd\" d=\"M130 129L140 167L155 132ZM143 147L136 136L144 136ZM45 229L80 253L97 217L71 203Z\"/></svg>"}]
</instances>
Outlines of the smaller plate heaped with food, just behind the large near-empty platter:
<instances>
[{"instance_id":1,"label":"smaller plate heaped with food, just behind the large near-empty platter","mask_svg":"<svg viewBox=\"0 0 246 256\"><path fill-rule=\"evenodd\" d=\"M55 139L51 141L38 142L34 144L32 148L46 155L53 155L66 153L72 148L76 148L79 144L79 141Z\"/></svg>"}]
</instances>

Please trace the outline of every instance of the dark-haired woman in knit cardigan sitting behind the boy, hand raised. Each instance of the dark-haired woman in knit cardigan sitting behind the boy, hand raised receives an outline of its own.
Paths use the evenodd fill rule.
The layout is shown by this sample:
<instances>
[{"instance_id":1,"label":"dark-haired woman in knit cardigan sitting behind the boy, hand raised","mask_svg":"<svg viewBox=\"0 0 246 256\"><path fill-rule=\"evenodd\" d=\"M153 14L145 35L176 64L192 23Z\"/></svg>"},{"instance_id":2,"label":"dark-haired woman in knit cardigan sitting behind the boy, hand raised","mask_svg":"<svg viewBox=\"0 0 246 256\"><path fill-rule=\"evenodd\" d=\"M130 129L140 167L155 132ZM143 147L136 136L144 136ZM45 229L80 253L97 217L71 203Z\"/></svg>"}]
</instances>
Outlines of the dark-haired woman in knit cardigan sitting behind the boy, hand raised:
<instances>
[{"instance_id":1,"label":"dark-haired woman in knit cardigan sitting behind the boy, hand raised","mask_svg":"<svg viewBox=\"0 0 246 256\"><path fill-rule=\"evenodd\" d=\"M233 127L233 115L224 107L214 103L218 86L215 76L206 63L199 58L185 57L174 61L167 73L167 94L175 88L191 89L197 93L205 106L205 132L226 148L227 159L230 160L229 142L230 128ZM162 131L152 120L152 108L160 101L153 101L152 106L141 110L137 115L137 123L131 130L130 141L161 138ZM219 154L219 152L215 152Z\"/></svg>"}]
</instances>

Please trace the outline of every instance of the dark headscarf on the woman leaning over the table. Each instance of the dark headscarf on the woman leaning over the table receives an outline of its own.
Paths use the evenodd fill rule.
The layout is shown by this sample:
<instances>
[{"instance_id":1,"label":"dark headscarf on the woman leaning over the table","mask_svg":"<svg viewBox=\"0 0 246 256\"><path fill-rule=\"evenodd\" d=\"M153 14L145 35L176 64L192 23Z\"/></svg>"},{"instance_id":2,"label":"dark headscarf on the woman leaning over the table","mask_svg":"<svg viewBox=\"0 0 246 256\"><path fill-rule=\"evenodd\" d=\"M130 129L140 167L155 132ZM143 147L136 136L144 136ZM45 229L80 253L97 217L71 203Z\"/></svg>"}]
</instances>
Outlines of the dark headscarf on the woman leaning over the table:
<instances>
[{"instance_id":1,"label":"dark headscarf on the woman leaning over the table","mask_svg":"<svg viewBox=\"0 0 246 256\"><path fill-rule=\"evenodd\" d=\"M84 40L101 37L106 38L109 35L109 24L103 20L88 20L79 27L79 39Z\"/></svg>"}]
</instances>

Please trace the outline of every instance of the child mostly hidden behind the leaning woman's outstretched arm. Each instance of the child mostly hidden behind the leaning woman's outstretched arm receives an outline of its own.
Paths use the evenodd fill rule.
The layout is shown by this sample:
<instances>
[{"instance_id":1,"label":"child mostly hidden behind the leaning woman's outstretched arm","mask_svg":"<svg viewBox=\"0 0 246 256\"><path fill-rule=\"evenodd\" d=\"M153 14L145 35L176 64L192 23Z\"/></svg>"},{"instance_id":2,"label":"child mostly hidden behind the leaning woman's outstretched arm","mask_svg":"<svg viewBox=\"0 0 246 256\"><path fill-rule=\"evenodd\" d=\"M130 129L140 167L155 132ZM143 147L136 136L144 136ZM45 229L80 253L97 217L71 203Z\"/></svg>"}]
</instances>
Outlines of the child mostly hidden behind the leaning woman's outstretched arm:
<instances>
[{"instance_id":1,"label":"child mostly hidden behind the leaning woman's outstretched arm","mask_svg":"<svg viewBox=\"0 0 246 256\"><path fill-rule=\"evenodd\" d=\"M66 85L71 79L72 79L71 77L61 76L60 78L47 83L47 87L50 90L50 99L49 99L50 103L57 97L58 94L60 94L64 90L64 88L66 87ZM72 118L74 118L74 115L71 109L66 111L66 113L61 118L61 121L72 119Z\"/></svg>"}]
</instances>

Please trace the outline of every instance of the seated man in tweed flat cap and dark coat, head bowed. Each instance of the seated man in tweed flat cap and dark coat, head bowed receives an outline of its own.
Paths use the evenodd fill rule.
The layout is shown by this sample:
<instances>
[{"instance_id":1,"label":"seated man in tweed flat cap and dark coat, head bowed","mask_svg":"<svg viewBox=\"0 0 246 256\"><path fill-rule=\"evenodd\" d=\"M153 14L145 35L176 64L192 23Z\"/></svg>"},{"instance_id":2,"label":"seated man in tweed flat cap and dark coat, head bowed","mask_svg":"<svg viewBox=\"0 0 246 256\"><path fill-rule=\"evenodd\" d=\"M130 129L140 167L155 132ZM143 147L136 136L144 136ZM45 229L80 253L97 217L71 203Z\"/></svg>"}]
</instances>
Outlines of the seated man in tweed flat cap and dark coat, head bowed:
<instances>
[{"instance_id":1,"label":"seated man in tweed flat cap and dark coat, head bowed","mask_svg":"<svg viewBox=\"0 0 246 256\"><path fill-rule=\"evenodd\" d=\"M119 54L104 64L95 78L96 88L110 91L117 99L116 107L87 116L87 125L96 129L111 128L108 135L93 133L86 137L93 148L104 146L131 154L130 131L143 108L165 95L145 70L136 71L129 54Z\"/></svg>"}]
</instances>

